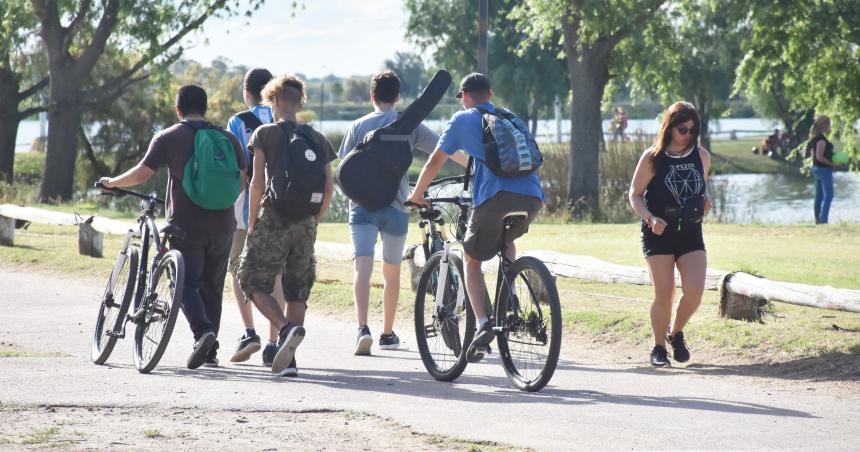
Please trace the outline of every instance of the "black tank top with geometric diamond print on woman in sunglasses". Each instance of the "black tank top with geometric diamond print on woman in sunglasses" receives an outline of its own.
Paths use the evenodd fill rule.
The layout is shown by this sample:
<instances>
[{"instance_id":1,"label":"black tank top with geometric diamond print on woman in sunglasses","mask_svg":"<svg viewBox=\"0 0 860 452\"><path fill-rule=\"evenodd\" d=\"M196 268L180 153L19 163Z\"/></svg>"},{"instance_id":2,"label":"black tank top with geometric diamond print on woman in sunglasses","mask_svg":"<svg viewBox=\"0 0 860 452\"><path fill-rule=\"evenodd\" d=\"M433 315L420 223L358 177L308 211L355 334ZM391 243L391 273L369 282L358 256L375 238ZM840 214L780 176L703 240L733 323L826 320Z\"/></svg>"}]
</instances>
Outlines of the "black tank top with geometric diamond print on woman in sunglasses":
<instances>
[{"instance_id":1,"label":"black tank top with geometric diamond print on woman in sunglasses","mask_svg":"<svg viewBox=\"0 0 860 452\"><path fill-rule=\"evenodd\" d=\"M699 148L694 146L680 157L665 151L654 158L654 177L645 190L645 206L657 217L677 227L683 212L704 208L705 170ZM674 212L674 214L673 214ZM674 215L674 217L673 217ZM642 221L643 230L648 226Z\"/></svg>"}]
</instances>

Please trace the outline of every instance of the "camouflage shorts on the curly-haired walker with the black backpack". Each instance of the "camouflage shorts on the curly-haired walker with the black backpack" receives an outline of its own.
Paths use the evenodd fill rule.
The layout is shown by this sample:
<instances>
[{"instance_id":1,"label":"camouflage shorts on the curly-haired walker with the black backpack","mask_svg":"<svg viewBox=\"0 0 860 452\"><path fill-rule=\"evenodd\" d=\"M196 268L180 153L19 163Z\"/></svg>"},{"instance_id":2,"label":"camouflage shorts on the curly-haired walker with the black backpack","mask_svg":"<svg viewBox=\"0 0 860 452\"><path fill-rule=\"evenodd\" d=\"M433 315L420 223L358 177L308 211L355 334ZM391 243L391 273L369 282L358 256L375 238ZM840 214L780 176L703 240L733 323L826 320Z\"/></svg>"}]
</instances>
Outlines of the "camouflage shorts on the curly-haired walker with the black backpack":
<instances>
[{"instance_id":1,"label":"camouflage shorts on the curly-haired walker with the black backpack","mask_svg":"<svg viewBox=\"0 0 860 452\"><path fill-rule=\"evenodd\" d=\"M272 293L275 277L283 270L287 301L307 301L316 278L316 238L313 217L287 221L264 207L239 261L239 286L245 296Z\"/></svg>"}]
</instances>

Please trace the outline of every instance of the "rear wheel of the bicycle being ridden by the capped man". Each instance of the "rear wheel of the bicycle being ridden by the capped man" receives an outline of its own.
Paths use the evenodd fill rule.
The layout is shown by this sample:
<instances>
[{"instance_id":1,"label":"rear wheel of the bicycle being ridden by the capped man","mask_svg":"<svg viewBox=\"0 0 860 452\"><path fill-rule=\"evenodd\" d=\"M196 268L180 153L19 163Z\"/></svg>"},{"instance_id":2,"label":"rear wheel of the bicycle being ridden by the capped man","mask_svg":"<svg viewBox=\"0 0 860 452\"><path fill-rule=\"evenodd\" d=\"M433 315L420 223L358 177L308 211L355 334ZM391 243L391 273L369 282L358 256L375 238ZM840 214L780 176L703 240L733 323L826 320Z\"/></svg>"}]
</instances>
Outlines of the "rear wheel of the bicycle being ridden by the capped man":
<instances>
[{"instance_id":1,"label":"rear wheel of the bicycle being ridden by the capped man","mask_svg":"<svg viewBox=\"0 0 860 452\"><path fill-rule=\"evenodd\" d=\"M508 379L523 391L549 383L561 350L561 303L555 279L534 257L517 259L508 270L510 291L499 297L499 355ZM511 297L510 295L513 295Z\"/></svg>"}]
</instances>

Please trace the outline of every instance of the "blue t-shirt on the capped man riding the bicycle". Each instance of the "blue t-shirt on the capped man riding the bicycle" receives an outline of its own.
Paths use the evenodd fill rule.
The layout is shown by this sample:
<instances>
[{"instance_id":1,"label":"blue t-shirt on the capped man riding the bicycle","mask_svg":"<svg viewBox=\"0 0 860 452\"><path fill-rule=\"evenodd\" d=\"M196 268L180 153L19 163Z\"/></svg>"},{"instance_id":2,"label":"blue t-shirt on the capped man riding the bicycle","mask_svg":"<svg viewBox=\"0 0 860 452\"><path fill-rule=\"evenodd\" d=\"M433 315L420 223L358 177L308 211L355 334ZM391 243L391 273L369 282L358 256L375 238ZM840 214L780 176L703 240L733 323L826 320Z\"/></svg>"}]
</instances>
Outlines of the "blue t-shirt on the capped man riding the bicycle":
<instances>
[{"instance_id":1,"label":"blue t-shirt on the capped man riding the bicycle","mask_svg":"<svg viewBox=\"0 0 860 452\"><path fill-rule=\"evenodd\" d=\"M489 102L483 103L479 107L488 111L496 111L493 104ZM438 144L439 149L448 155L463 150L471 157L475 157L473 164L475 174L472 178L472 206L480 206L500 191L534 196L541 202L546 202L546 195L540 186L540 178L537 173L519 177L499 177L493 174L483 163L486 160L486 155L484 154L484 132L481 120L481 112L474 108L454 113L454 116L445 126Z\"/></svg>"}]
</instances>

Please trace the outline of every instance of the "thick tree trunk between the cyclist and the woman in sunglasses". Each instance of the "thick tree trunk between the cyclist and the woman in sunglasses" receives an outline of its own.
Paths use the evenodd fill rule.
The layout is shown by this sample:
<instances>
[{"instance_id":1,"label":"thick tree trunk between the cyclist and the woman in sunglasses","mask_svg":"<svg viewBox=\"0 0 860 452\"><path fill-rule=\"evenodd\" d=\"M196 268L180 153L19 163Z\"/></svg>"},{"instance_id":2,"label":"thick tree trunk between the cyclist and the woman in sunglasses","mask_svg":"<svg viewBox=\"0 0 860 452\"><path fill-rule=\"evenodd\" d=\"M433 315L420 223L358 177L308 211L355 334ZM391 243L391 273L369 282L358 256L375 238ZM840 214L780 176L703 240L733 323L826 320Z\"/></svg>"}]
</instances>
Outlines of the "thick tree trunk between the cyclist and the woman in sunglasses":
<instances>
[{"instance_id":1,"label":"thick tree trunk between the cyclist and the woman in sunglasses","mask_svg":"<svg viewBox=\"0 0 860 452\"><path fill-rule=\"evenodd\" d=\"M567 61L573 92L568 203L573 218L594 219L599 213L600 102L609 81L609 52L594 48L581 56L571 52Z\"/></svg>"}]
</instances>

